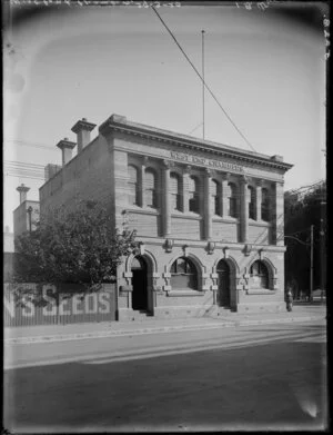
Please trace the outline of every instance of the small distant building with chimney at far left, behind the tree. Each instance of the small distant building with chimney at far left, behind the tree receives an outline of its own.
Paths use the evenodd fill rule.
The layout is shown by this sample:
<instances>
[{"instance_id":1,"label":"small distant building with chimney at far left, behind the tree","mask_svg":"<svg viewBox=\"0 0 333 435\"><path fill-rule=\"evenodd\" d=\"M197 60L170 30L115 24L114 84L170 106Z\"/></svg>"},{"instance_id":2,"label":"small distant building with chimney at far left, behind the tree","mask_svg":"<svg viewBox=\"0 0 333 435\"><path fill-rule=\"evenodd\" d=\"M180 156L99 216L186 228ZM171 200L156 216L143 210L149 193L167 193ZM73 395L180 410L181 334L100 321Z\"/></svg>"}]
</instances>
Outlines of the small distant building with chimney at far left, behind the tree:
<instances>
[{"instance_id":1,"label":"small distant building with chimney at far left, behind the tree","mask_svg":"<svg viewBox=\"0 0 333 435\"><path fill-rule=\"evenodd\" d=\"M30 187L22 184L17 190L20 194L20 205L13 210L14 238L26 231L33 231L36 223L39 221L39 201L27 199Z\"/></svg>"}]
</instances>

